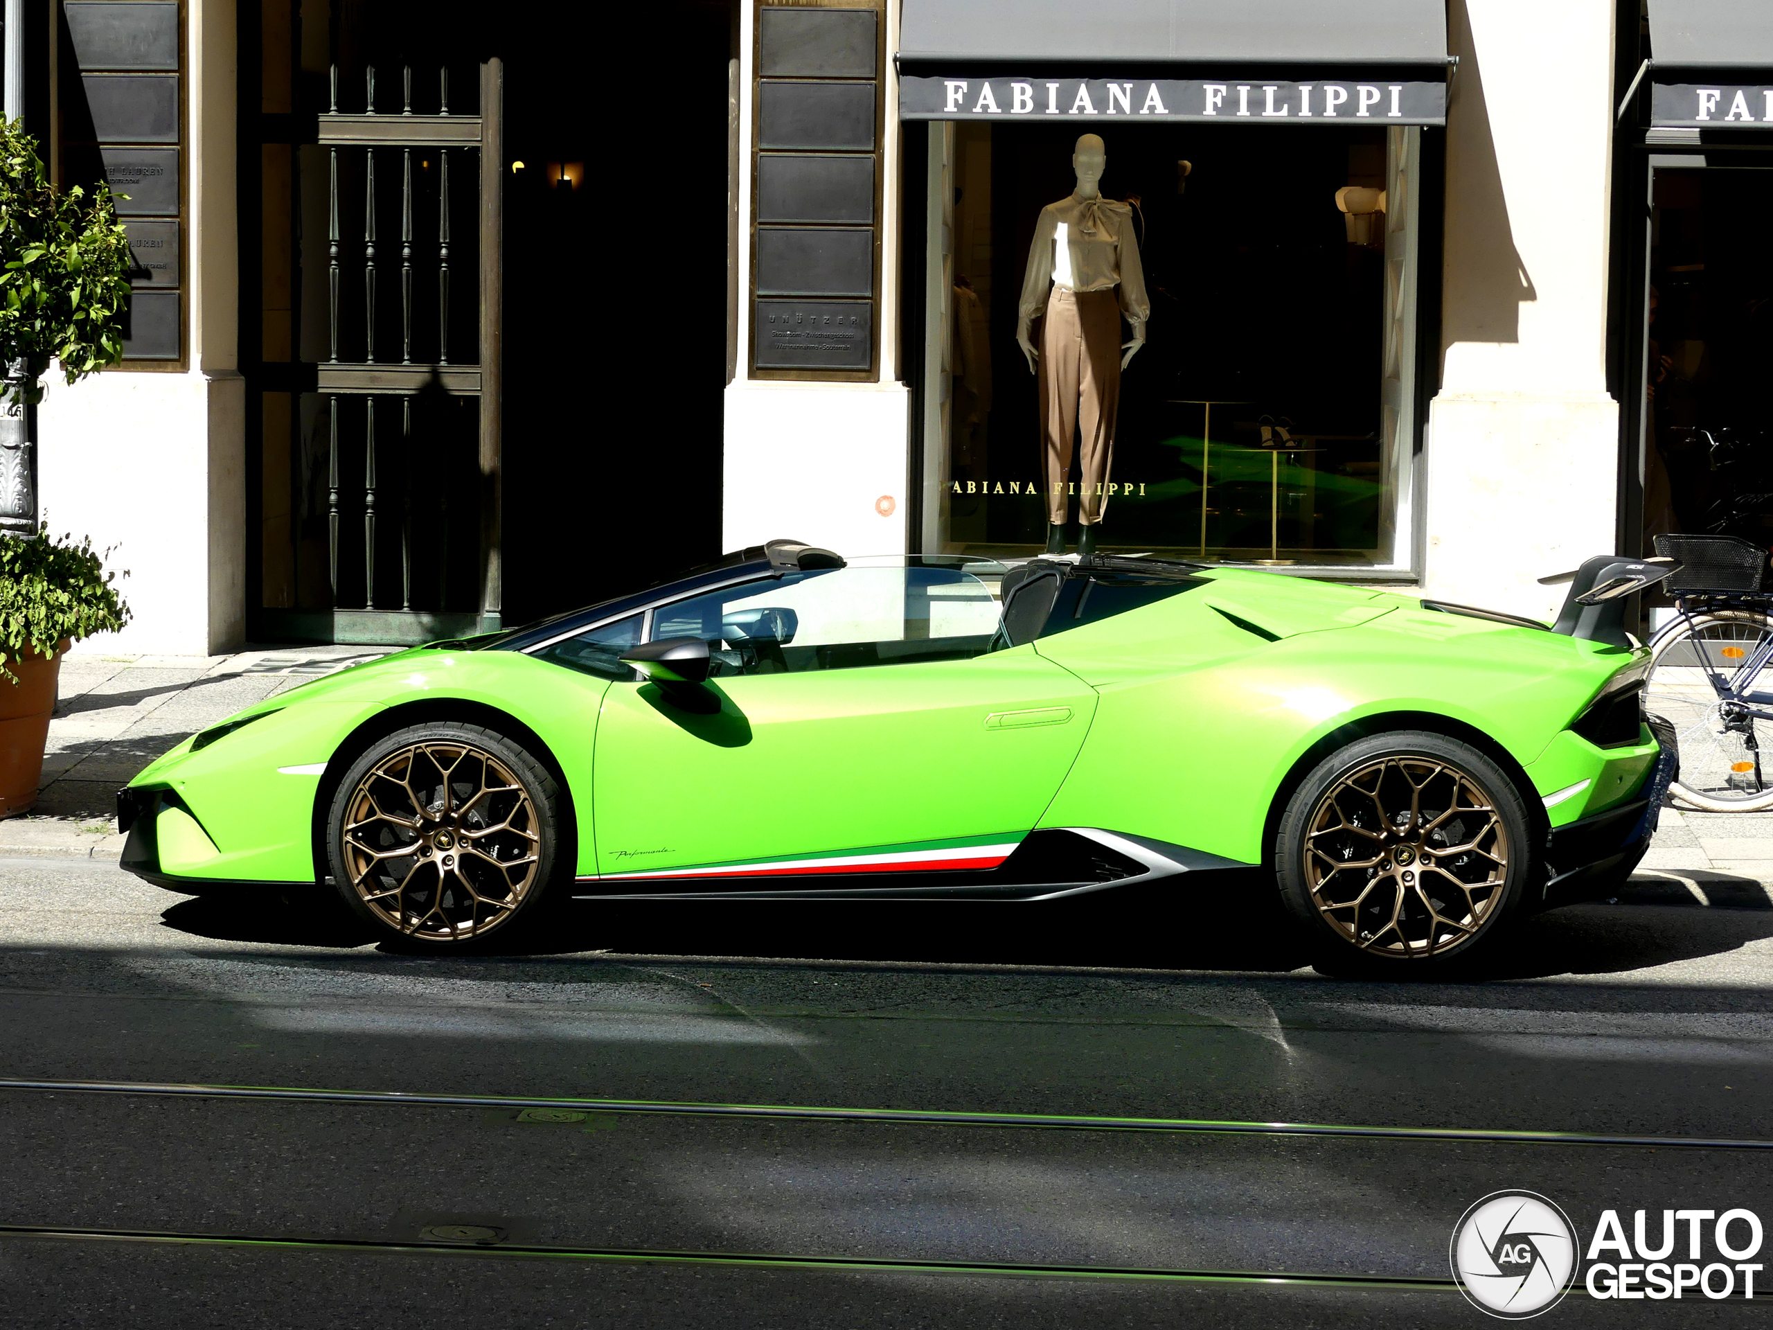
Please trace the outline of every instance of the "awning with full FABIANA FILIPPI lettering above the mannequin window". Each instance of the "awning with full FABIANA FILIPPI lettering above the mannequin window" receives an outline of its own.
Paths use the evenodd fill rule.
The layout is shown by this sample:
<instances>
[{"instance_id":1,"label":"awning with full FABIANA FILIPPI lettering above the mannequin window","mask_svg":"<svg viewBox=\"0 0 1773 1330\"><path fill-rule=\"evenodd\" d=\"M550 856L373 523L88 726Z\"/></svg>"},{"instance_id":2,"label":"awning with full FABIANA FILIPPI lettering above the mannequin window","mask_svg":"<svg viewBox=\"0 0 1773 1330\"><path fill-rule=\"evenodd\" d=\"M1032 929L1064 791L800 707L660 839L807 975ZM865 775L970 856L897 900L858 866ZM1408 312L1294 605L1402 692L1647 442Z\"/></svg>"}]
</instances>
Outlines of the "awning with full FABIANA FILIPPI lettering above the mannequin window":
<instances>
[{"instance_id":1,"label":"awning with full FABIANA FILIPPI lettering above the mannequin window","mask_svg":"<svg viewBox=\"0 0 1773 1330\"><path fill-rule=\"evenodd\" d=\"M1443 0L904 0L908 121L1443 124Z\"/></svg>"}]
</instances>

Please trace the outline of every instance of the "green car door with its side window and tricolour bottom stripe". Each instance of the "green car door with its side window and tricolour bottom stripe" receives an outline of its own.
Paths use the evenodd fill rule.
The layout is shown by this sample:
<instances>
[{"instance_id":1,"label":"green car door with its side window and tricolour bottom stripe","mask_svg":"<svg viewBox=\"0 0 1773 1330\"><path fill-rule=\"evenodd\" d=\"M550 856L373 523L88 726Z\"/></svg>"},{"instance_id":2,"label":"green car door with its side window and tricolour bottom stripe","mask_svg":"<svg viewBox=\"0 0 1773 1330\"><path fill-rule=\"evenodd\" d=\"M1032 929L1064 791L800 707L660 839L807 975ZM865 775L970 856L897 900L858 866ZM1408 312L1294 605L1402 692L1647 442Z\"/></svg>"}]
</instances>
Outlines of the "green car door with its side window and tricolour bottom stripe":
<instances>
[{"instance_id":1,"label":"green car door with its side window and tricolour bottom stripe","mask_svg":"<svg viewBox=\"0 0 1773 1330\"><path fill-rule=\"evenodd\" d=\"M1076 759L1096 693L1032 647L989 649L996 617L986 583L931 559L656 608L649 640L711 644L720 711L676 706L644 679L605 693L599 876L757 890L759 878L793 888L1000 862Z\"/></svg>"}]
</instances>

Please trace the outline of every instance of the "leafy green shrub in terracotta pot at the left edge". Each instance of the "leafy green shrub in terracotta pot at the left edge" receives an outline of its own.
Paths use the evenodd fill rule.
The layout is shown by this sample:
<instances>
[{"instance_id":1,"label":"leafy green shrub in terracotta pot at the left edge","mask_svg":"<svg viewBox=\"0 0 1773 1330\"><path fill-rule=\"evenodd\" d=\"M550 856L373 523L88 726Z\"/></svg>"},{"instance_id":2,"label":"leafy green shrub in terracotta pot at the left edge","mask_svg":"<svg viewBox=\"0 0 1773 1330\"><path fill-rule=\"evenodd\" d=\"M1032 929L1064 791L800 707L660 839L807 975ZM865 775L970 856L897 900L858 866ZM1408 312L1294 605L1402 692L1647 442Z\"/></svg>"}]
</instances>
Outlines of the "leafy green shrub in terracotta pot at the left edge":
<instances>
[{"instance_id":1,"label":"leafy green shrub in terracotta pot at the left edge","mask_svg":"<svg viewBox=\"0 0 1773 1330\"><path fill-rule=\"evenodd\" d=\"M37 802L62 653L129 622L115 576L90 539L0 536L0 818Z\"/></svg>"}]
</instances>

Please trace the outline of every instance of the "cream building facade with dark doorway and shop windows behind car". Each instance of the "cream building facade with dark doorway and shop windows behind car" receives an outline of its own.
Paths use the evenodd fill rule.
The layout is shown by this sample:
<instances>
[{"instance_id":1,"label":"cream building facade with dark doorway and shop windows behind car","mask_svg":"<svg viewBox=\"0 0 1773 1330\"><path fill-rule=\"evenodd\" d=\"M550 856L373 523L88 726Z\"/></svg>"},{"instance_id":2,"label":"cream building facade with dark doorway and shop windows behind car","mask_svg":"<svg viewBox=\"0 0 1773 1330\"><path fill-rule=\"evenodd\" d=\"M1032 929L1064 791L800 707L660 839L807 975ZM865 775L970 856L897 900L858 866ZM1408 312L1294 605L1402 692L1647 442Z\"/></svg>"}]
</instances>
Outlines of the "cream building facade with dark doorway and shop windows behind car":
<instances>
[{"instance_id":1,"label":"cream building facade with dark doorway and shop windows behind car","mask_svg":"<svg viewBox=\"0 0 1773 1330\"><path fill-rule=\"evenodd\" d=\"M777 536L1083 521L1541 617L1587 555L1773 539L1773 20L1727 0L57 14L51 160L140 266L43 505L131 571L119 649L459 635Z\"/></svg>"}]
</instances>

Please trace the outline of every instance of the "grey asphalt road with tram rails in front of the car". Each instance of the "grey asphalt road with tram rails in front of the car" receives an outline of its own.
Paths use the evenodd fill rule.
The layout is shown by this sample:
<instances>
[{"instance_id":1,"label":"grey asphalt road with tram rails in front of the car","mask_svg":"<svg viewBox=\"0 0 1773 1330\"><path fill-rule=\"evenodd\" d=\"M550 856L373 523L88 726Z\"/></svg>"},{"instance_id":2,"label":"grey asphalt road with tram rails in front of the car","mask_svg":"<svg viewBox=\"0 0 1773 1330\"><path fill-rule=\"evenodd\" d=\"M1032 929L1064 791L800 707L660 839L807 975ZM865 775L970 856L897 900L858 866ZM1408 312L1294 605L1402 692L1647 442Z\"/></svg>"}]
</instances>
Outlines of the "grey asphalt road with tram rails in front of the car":
<instances>
[{"instance_id":1,"label":"grey asphalt road with tram rails in front of the car","mask_svg":"<svg viewBox=\"0 0 1773 1330\"><path fill-rule=\"evenodd\" d=\"M0 860L0 917L7 1325L1479 1325L1489 1192L1773 1220L1757 892L1555 911L1449 984L1177 892L585 904L434 959Z\"/></svg>"}]
</instances>

